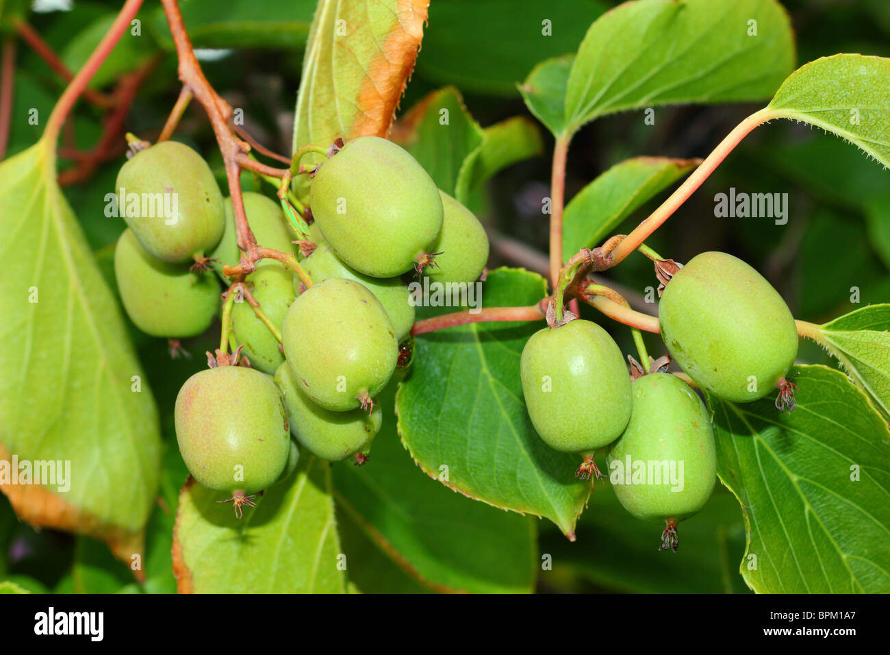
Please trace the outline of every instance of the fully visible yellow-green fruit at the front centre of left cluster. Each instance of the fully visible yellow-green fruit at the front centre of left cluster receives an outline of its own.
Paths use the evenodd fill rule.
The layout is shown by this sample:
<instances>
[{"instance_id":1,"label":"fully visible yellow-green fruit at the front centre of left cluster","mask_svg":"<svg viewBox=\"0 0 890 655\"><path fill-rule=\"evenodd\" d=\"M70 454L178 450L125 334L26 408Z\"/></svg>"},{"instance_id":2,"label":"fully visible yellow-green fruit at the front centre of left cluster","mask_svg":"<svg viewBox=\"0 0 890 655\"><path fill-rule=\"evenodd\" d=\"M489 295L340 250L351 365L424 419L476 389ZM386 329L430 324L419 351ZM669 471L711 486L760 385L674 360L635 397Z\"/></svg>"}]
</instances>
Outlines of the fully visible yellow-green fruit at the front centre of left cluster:
<instances>
[{"instance_id":1,"label":"fully visible yellow-green fruit at the front centre of left cluster","mask_svg":"<svg viewBox=\"0 0 890 655\"><path fill-rule=\"evenodd\" d=\"M371 404L399 356L392 323L374 294L343 278L314 284L295 299L282 336L300 389L335 412Z\"/></svg>"}]
</instances>

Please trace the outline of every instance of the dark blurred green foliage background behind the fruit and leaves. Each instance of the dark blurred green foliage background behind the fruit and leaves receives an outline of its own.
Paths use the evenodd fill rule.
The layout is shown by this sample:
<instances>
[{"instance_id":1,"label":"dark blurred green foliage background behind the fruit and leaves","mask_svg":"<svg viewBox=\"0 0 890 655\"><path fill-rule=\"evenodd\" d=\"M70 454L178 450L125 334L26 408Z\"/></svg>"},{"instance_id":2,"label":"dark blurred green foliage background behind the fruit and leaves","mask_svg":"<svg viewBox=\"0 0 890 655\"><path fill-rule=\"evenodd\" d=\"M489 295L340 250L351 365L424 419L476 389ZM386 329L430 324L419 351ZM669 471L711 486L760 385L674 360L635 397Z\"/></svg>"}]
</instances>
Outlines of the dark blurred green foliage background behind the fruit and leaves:
<instances>
[{"instance_id":1,"label":"dark blurred green foliage background behind the fruit and leaves","mask_svg":"<svg viewBox=\"0 0 890 655\"><path fill-rule=\"evenodd\" d=\"M788 0L783 4L797 36L798 65L840 52L890 56L890 5L882 0ZM539 24L537 5L532 0L433 0L424 47L401 109L409 109L442 86L454 85L463 92L466 108L481 126L527 115L514 83L525 78L538 61L577 50L587 26L612 3L565 0L547 7L547 17L554 21L554 36L541 51L530 49L522 36L529 21ZM76 69L118 7L116 2L76 2L70 12L32 14L28 20L62 60ZM244 108L248 131L281 152L290 150L295 94L313 7L313 0L183 3L196 47L239 48L216 61L202 61L206 76L233 105ZM157 56L158 66L142 87L127 122L129 131L151 138L166 119L180 85L158 5L147 3L140 16L142 46L117 48L93 86L107 90L117 75ZM43 61L20 45L8 156L35 143L42 132L42 126L29 126L22 118L28 109L37 108L41 116L48 116L62 88L61 80ZM566 197L571 198L595 176L630 157L704 156L740 119L764 104L659 108L655 126L644 125L638 111L599 119L581 129L572 142ZM543 128L541 133L544 151L549 153L552 137ZM80 102L73 119L77 148L88 150L100 135L100 115ZM186 113L177 138L203 152L224 184L222 162L202 111L191 108ZM122 160L121 155L102 165L84 184L64 189L112 288L110 256L124 224L104 216L104 196L113 187ZM62 159L62 169L65 166ZM492 230L546 252L547 221L540 207L541 199L549 194L549 175L547 156L522 161L473 191L473 207ZM886 170L841 140L782 121L757 130L733 151L648 243L678 261L702 250L732 252L765 274L789 301L797 318L824 323L864 304L890 299L887 179ZM259 188L247 175L242 184L246 189ZM749 192L788 192L789 225L780 229L765 219L715 218L713 197L730 186ZM634 225L655 206L655 201L643 204L623 225ZM491 263L513 264L499 259L497 252ZM628 258L610 271L609 278L637 294L643 294L653 282L651 266L644 258ZM851 302L854 287L860 290L859 304ZM592 312L590 317L599 320ZM627 330L612 329L614 324L608 321L601 323L611 330L622 350L633 352ZM175 590L168 553L178 490L186 473L175 447L174 398L182 381L204 366L203 353L214 348L217 330L218 326L184 344L194 354L191 360L173 361L167 356L166 343L130 330L157 399L166 438L161 499L147 530L147 582L135 584L103 544L53 530L38 533L17 522L3 495L0 581L8 579L36 592ZM656 337L647 337L647 345L654 356L662 354ZM802 342L799 361L835 365L808 341ZM428 479L399 445L392 413L386 420L389 423L375 446L375 458L380 460L380 470L392 472L392 476L416 476L410 485L386 488L369 475L370 469L353 471L348 463L333 467L342 547L352 562L350 568L360 571L350 576L352 589L748 591L738 572L745 549L742 515L738 502L721 485L705 510L684 522L682 547L676 555L656 551L658 529L627 515L608 486L595 488L576 528L578 540L570 543L550 521L505 515ZM428 498L428 504L414 506L400 497L405 494ZM373 512L363 512L362 503L367 503L369 495L382 500ZM369 521L374 512L376 522ZM465 517L465 522L442 527L456 517ZM419 533L428 538L418 543ZM477 549L443 547L472 540L479 544ZM404 566L384 544L410 553L414 566ZM552 556L552 569L541 569L542 555ZM504 570L498 571L498 566Z\"/></svg>"}]
</instances>

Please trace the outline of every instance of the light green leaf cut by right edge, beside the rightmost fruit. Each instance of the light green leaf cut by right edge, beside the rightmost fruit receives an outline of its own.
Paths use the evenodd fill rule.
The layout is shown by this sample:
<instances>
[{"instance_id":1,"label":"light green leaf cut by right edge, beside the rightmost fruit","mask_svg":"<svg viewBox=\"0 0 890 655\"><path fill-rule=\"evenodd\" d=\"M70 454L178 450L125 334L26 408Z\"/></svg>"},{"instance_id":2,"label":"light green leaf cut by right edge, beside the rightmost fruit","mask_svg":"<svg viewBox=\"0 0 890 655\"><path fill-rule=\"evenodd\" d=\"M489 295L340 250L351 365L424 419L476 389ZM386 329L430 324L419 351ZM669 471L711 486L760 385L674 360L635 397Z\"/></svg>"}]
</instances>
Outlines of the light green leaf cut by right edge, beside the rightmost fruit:
<instances>
[{"instance_id":1,"label":"light green leaf cut by right edge, beside the rightmost fruit","mask_svg":"<svg viewBox=\"0 0 890 655\"><path fill-rule=\"evenodd\" d=\"M870 305L820 329L819 341L853 381L890 416L890 305Z\"/></svg>"}]
</instances>

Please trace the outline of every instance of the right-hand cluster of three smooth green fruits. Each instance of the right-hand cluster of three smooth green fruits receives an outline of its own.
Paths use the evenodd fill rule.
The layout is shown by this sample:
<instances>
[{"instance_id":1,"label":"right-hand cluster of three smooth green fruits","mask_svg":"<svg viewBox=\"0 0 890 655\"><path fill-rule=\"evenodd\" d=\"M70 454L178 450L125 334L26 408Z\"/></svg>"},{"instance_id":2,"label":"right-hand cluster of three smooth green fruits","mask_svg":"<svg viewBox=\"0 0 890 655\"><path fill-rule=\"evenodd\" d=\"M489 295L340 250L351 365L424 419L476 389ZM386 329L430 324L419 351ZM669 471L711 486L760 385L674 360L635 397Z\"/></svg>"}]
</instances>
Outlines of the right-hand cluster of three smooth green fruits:
<instances>
[{"instance_id":1,"label":"right-hand cluster of three smooth green fruits","mask_svg":"<svg viewBox=\"0 0 890 655\"><path fill-rule=\"evenodd\" d=\"M797 356L797 328L781 296L751 266L721 252L698 255L671 277L659 303L670 356L700 389L735 403L779 389ZM644 363L645 365L645 363ZM628 512L665 521L661 548L676 551L676 523L708 502L716 480L711 417L694 391L666 367L631 381L618 345L596 323L575 319L536 332L522 351L522 390L547 445L584 456L578 475L600 477L594 452L609 446L615 494ZM643 374L644 373L644 374ZM675 464L681 484L630 475Z\"/></svg>"}]
</instances>

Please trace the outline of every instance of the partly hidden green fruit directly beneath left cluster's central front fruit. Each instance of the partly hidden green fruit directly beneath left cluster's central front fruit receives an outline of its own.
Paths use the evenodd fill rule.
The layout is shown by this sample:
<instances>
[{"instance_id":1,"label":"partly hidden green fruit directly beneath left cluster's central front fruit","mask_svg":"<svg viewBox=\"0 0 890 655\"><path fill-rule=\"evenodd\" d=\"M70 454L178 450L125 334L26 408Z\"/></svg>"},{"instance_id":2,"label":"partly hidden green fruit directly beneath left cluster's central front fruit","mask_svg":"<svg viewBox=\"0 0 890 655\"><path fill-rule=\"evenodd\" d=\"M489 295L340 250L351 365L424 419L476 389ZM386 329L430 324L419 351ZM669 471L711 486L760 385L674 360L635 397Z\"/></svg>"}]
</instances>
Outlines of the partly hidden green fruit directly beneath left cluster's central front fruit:
<instances>
[{"instance_id":1,"label":"partly hidden green fruit directly beneath left cluster's central front fruit","mask_svg":"<svg viewBox=\"0 0 890 655\"><path fill-rule=\"evenodd\" d=\"M383 412L367 412L353 409L349 412L331 412L316 405L299 389L293 371L285 362L275 372L275 383L281 389L291 434L321 459L339 462L352 454L356 461L366 459L371 442L380 431Z\"/></svg>"}]
</instances>

